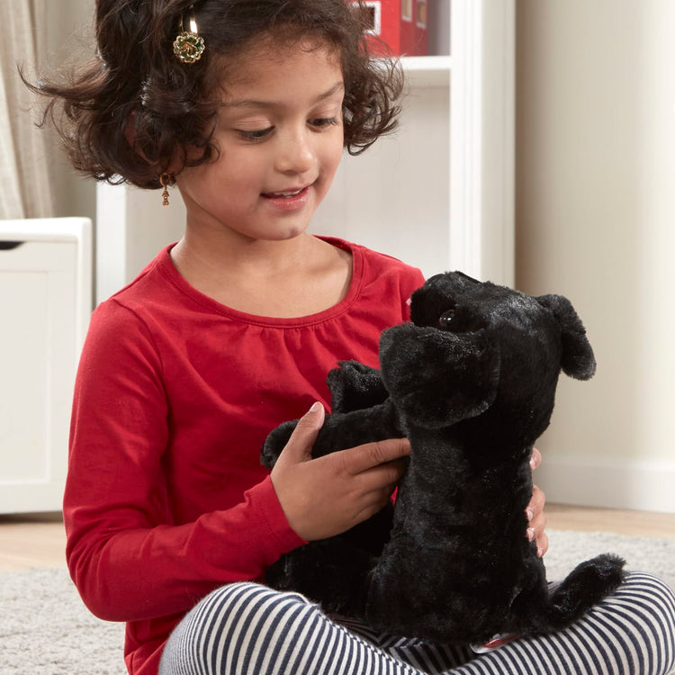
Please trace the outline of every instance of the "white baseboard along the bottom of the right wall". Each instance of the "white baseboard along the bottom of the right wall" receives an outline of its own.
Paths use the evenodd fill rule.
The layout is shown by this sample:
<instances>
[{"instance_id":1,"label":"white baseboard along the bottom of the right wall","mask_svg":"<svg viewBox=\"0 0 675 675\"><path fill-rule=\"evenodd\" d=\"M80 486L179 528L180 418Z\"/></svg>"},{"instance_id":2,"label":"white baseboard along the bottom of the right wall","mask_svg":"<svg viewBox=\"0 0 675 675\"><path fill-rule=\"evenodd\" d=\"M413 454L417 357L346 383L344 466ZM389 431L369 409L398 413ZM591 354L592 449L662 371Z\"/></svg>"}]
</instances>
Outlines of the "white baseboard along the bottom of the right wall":
<instances>
[{"instance_id":1,"label":"white baseboard along the bottom of the right wall","mask_svg":"<svg viewBox=\"0 0 675 675\"><path fill-rule=\"evenodd\" d=\"M545 455L535 482L556 504L675 513L675 462L667 460Z\"/></svg>"}]
</instances>

